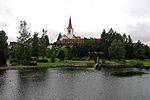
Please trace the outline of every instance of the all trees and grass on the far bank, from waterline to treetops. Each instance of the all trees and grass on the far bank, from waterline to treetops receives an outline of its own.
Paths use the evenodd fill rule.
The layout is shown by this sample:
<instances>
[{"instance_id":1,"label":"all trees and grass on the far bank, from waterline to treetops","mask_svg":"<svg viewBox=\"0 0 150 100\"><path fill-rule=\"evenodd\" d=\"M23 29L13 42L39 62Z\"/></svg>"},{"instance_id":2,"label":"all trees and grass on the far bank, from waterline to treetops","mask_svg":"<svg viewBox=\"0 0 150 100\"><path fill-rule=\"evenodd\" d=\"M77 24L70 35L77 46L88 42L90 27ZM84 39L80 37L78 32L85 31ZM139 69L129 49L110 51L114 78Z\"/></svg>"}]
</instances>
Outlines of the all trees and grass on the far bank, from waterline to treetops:
<instances>
[{"instance_id":1,"label":"all trees and grass on the far bank, from waterline to treetops","mask_svg":"<svg viewBox=\"0 0 150 100\"><path fill-rule=\"evenodd\" d=\"M150 66L150 48L140 40L133 43L130 35L120 34L112 28L99 38L84 38L83 43L56 45L49 43L47 30L41 37L33 34L25 21L20 21L16 45L7 43L4 31L0 32L0 65L8 61L10 66L93 66L102 59L104 66L141 67ZM32 36L33 35L33 36ZM95 61L95 62L94 62Z\"/></svg>"}]
</instances>

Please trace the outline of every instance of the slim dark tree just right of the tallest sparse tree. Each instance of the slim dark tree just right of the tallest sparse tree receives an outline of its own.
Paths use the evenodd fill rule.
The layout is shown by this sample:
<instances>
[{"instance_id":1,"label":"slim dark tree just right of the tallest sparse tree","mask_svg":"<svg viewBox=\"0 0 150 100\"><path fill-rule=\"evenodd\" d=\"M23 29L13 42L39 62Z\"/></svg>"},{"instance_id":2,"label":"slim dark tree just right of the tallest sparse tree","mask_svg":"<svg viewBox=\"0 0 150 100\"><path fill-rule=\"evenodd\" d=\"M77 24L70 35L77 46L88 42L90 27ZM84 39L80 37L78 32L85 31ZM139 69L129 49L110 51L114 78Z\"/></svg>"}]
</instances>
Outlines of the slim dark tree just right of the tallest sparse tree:
<instances>
[{"instance_id":1,"label":"slim dark tree just right of the tallest sparse tree","mask_svg":"<svg viewBox=\"0 0 150 100\"><path fill-rule=\"evenodd\" d=\"M39 56L39 38L38 33L34 33L32 39L32 56L38 58Z\"/></svg>"}]
</instances>

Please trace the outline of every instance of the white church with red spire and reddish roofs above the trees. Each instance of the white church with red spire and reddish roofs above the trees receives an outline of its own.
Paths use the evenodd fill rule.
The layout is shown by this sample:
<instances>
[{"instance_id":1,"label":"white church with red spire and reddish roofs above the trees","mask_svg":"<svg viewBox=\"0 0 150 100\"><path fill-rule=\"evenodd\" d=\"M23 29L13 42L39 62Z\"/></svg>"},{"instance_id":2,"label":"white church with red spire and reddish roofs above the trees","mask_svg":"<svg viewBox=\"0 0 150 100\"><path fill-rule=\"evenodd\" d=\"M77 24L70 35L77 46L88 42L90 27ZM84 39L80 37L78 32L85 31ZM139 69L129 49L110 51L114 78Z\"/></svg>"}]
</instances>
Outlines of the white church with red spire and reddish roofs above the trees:
<instances>
[{"instance_id":1,"label":"white church with red spire and reddish roofs above the trees","mask_svg":"<svg viewBox=\"0 0 150 100\"><path fill-rule=\"evenodd\" d=\"M82 39L80 36L74 35L74 29L72 27L71 17L69 18L69 24L67 27L67 33L62 35L59 34L57 41L54 42L54 45L56 46L62 46L62 45L72 45L73 43L83 43L84 39Z\"/></svg>"}]
</instances>

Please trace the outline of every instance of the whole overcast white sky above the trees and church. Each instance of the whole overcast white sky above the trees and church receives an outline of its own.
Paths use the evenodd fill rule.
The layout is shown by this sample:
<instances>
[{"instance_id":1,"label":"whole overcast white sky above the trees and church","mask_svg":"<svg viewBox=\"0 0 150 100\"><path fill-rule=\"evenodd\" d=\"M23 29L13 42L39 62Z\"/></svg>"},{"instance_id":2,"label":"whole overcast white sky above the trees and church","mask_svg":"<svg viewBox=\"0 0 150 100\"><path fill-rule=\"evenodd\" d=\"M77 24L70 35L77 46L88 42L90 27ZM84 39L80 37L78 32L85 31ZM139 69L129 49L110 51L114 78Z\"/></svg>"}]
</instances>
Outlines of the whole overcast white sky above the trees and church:
<instances>
[{"instance_id":1,"label":"whole overcast white sky above the trees and church","mask_svg":"<svg viewBox=\"0 0 150 100\"><path fill-rule=\"evenodd\" d=\"M19 24L25 20L29 31L48 30L51 42L66 34L69 17L74 34L100 38L103 29L130 34L133 41L150 45L150 0L0 0L0 30L8 41L16 41Z\"/></svg>"}]
</instances>

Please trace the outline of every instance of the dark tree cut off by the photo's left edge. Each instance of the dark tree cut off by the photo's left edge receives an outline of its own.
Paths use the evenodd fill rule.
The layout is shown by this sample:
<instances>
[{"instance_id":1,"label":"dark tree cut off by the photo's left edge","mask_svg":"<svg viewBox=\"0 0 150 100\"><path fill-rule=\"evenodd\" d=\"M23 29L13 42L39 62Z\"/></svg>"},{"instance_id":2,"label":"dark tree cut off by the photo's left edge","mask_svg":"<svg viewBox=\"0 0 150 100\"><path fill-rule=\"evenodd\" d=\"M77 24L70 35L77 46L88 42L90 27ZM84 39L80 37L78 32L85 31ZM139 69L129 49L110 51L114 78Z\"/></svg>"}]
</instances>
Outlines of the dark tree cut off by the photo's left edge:
<instances>
[{"instance_id":1,"label":"dark tree cut off by the photo's left edge","mask_svg":"<svg viewBox=\"0 0 150 100\"><path fill-rule=\"evenodd\" d=\"M0 65L6 65L7 59L7 39L5 31L0 31Z\"/></svg>"}]
</instances>

